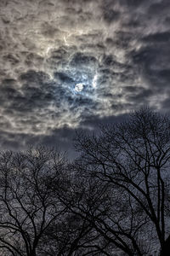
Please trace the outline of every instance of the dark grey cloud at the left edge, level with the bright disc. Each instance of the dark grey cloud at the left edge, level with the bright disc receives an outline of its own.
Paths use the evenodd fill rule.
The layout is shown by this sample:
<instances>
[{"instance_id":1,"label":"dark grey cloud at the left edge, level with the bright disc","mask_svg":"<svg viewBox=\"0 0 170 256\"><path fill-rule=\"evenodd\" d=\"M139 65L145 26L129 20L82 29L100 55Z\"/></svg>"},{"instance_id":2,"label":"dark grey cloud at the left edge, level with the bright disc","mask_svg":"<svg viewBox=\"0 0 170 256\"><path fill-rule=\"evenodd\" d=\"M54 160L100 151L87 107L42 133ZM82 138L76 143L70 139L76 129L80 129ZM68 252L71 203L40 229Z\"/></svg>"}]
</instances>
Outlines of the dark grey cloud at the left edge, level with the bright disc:
<instances>
[{"instance_id":1,"label":"dark grey cloud at the left edge, level with the bright disc","mask_svg":"<svg viewBox=\"0 0 170 256\"><path fill-rule=\"evenodd\" d=\"M34 112L37 108L47 106L54 100L54 85L48 84L48 75L28 71L20 75L22 86L14 86L14 80L4 79L0 91L0 104L6 110L16 112ZM16 83L16 82L15 82Z\"/></svg>"}]
</instances>

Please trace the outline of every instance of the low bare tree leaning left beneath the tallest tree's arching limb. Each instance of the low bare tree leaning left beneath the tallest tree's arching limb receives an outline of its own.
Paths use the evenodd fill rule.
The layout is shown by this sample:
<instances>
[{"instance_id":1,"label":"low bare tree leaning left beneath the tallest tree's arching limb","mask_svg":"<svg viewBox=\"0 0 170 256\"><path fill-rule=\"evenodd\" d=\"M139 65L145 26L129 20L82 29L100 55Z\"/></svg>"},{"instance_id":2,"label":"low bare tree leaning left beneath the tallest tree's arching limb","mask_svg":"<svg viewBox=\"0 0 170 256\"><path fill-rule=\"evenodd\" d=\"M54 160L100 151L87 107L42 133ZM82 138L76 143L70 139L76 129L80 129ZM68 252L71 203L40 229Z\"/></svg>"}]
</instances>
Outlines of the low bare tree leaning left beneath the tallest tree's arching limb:
<instances>
[{"instance_id":1,"label":"low bare tree leaning left beneath the tallest tree's arching limb","mask_svg":"<svg viewBox=\"0 0 170 256\"><path fill-rule=\"evenodd\" d=\"M147 254L149 247L146 247L145 241L150 239L152 231L146 230L148 218L141 214L140 208L126 191L106 179L91 176L96 172L95 167L83 164L83 160L78 160L72 166L77 181L74 181L71 192L58 195L60 200L71 212L88 221L94 233L98 234L96 242L100 248L105 247L105 253ZM92 246L94 244L95 241Z\"/></svg>"}]
</instances>

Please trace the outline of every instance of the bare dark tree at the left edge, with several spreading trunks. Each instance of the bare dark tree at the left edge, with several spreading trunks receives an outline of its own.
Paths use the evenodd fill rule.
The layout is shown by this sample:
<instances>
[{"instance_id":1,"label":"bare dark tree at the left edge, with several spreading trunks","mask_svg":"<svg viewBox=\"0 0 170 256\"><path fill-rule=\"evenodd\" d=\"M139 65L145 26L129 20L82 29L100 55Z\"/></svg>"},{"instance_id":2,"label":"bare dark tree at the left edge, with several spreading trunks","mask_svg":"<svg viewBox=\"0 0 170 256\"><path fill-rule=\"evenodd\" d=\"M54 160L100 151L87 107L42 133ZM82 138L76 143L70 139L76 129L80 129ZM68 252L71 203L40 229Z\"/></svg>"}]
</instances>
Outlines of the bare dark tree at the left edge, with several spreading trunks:
<instances>
[{"instance_id":1,"label":"bare dark tree at the left edge, with several spreading trunks","mask_svg":"<svg viewBox=\"0 0 170 256\"><path fill-rule=\"evenodd\" d=\"M38 255L44 232L65 214L48 186L64 168L64 156L47 148L0 154L1 255Z\"/></svg>"}]
</instances>

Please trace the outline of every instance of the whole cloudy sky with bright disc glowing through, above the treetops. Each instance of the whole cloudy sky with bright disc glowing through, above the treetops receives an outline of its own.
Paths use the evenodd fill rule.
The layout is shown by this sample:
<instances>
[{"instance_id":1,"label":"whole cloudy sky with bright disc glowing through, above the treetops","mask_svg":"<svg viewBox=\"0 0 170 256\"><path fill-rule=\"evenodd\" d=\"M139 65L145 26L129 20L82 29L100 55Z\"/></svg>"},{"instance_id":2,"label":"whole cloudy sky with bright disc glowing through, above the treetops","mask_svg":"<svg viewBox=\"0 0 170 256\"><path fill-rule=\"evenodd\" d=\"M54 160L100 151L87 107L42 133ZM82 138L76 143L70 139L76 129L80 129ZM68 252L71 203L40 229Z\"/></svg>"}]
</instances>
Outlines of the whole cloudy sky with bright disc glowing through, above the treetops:
<instances>
[{"instance_id":1,"label":"whole cloudy sky with bright disc glowing through, above the treetops","mask_svg":"<svg viewBox=\"0 0 170 256\"><path fill-rule=\"evenodd\" d=\"M169 111L170 1L1 0L0 56L0 148L71 151L75 130Z\"/></svg>"}]
</instances>

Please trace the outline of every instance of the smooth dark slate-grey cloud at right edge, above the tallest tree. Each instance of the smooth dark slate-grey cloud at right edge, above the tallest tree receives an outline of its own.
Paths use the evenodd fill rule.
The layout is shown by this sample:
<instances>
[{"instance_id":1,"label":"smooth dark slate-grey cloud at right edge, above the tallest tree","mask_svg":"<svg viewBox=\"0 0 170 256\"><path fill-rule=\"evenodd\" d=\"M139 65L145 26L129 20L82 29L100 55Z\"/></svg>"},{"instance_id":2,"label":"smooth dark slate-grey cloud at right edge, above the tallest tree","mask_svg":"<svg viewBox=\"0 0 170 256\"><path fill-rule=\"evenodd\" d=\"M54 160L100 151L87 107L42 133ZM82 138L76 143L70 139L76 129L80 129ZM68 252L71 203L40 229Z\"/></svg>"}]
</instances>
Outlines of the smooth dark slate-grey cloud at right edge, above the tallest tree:
<instances>
[{"instance_id":1,"label":"smooth dark slate-grey cloud at right edge, above the tallest tree","mask_svg":"<svg viewBox=\"0 0 170 256\"><path fill-rule=\"evenodd\" d=\"M162 93L167 90L170 82L170 46L167 35L168 33L163 33L160 38L158 33L144 38L144 41L149 42L147 46L132 54L133 62L139 67L151 88Z\"/></svg>"}]
</instances>

